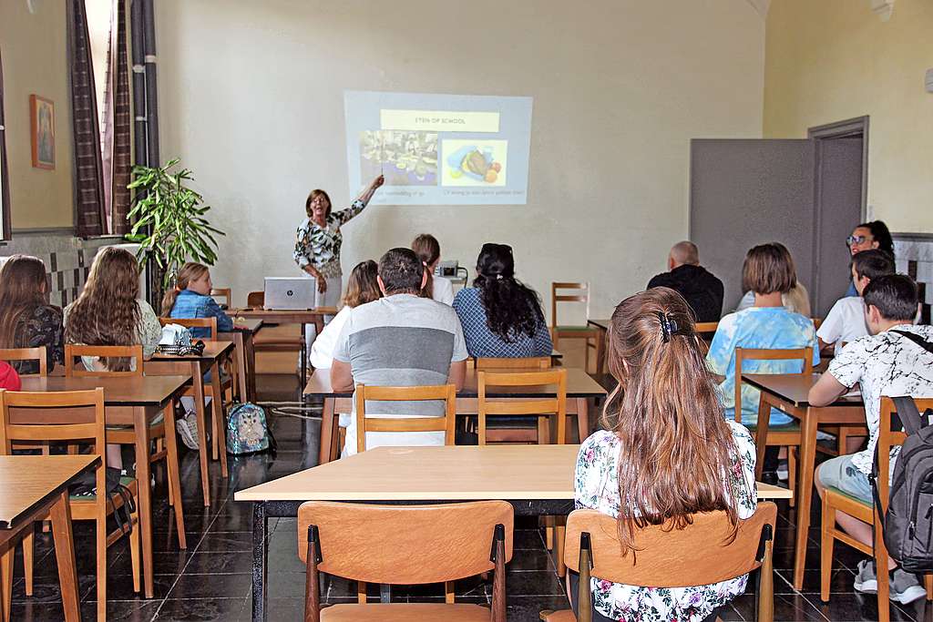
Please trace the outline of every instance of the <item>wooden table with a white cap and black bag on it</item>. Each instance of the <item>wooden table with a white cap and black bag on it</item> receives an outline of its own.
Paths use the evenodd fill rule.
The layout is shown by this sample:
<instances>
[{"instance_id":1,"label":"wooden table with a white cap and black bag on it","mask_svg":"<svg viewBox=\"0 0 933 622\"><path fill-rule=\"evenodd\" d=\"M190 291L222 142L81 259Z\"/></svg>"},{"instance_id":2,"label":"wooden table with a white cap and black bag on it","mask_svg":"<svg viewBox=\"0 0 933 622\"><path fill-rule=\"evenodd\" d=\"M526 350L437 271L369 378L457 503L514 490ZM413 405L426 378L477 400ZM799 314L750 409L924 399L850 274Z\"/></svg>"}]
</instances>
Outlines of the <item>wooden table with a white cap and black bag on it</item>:
<instances>
[{"instance_id":1,"label":"wooden table with a white cap and black bag on it","mask_svg":"<svg viewBox=\"0 0 933 622\"><path fill-rule=\"evenodd\" d=\"M198 456L201 462L201 487L204 507L211 505L210 481L208 476L208 450L207 450L207 422L204 415L204 379L207 371L211 372L211 410L214 412L214 460L220 460L220 472L227 477L227 450L226 445L220 447L220 439L226 439L227 417L224 414L223 390L220 386L220 362L229 357L235 350L234 341L204 341L204 351L201 354L162 354L156 352L143 367L146 375L160 376L163 374L187 373L191 375L191 384L194 388L194 412L198 421ZM174 427L173 427L174 431ZM219 454L219 455L218 455Z\"/></svg>"}]
</instances>

